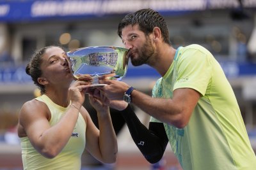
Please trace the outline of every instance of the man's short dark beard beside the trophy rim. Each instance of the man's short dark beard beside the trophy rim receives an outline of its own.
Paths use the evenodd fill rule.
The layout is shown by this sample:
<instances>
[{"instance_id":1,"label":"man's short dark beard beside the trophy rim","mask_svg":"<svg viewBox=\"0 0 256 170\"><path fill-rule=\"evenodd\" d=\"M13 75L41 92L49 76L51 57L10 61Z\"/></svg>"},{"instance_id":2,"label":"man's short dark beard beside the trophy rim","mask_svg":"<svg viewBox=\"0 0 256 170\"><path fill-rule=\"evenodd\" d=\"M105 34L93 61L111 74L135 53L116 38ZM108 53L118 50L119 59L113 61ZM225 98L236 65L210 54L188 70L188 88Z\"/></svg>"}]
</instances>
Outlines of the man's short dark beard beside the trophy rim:
<instances>
[{"instance_id":1,"label":"man's short dark beard beside the trophy rim","mask_svg":"<svg viewBox=\"0 0 256 170\"><path fill-rule=\"evenodd\" d=\"M150 65L150 58L154 53L154 47L152 46L150 40L146 38L146 41L141 47L140 51L137 49L135 53L138 56L136 58L131 58L131 63L133 66L141 66L142 64Z\"/></svg>"}]
</instances>

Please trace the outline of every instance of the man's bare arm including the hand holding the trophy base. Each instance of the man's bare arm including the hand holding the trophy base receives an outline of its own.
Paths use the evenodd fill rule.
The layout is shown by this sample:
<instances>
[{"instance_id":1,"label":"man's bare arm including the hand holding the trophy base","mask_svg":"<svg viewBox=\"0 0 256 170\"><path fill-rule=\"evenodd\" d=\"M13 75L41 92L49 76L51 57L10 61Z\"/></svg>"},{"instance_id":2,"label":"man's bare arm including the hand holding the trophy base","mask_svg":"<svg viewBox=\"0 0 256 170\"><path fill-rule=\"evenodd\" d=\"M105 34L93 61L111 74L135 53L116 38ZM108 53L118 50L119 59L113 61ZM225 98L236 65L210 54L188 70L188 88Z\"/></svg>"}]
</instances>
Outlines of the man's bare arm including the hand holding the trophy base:
<instances>
[{"instance_id":1,"label":"man's bare arm including the hand holding the trophy base","mask_svg":"<svg viewBox=\"0 0 256 170\"><path fill-rule=\"evenodd\" d=\"M129 85L122 81L102 80L108 85L102 87L105 96L111 100L122 100ZM131 93L131 101L141 110L161 122L184 128L200 98L200 93L194 89L180 88L173 91L173 98L153 98L138 90Z\"/></svg>"}]
</instances>

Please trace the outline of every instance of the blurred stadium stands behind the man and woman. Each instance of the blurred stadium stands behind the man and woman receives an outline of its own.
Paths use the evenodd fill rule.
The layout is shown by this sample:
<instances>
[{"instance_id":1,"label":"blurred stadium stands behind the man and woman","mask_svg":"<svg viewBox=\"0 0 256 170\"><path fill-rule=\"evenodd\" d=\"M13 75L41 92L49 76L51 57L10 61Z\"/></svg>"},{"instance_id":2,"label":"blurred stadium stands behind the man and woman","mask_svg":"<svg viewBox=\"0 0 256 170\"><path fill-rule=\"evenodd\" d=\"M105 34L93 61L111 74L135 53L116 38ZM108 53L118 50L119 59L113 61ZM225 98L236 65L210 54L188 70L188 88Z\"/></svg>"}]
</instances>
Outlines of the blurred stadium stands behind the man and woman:
<instances>
[{"instance_id":1,"label":"blurred stadium stands behind the man and woman","mask_svg":"<svg viewBox=\"0 0 256 170\"><path fill-rule=\"evenodd\" d=\"M38 95L25 73L33 52L47 45L67 51L123 46L116 34L118 23L141 8L164 16L175 48L197 43L212 52L234 89L256 151L256 0L10 0L0 1L0 170L22 169L16 124L22 104ZM150 67L129 64L123 81L151 95L157 78ZM84 106L97 125L88 101ZM149 117L136 106L134 110L148 125ZM83 169L181 169L170 146L159 164L149 164L118 111L111 110L111 116L118 136L116 164L101 164L84 152Z\"/></svg>"}]
</instances>

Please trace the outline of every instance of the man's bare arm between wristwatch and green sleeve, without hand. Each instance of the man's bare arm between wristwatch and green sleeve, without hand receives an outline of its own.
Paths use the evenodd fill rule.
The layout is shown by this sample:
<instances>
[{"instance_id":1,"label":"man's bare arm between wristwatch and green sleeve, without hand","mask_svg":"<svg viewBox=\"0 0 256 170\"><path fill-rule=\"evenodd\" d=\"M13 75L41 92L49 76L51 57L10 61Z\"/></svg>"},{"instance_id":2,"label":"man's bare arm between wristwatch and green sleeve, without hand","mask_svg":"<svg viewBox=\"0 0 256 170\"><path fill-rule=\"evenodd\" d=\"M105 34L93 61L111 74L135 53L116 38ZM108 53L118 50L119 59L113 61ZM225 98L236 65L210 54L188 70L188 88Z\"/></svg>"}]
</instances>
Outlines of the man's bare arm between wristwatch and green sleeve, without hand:
<instances>
[{"instance_id":1,"label":"man's bare arm between wristwatch and green sleeve, without hand","mask_svg":"<svg viewBox=\"0 0 256 170\"><path fill-rule=\"evenodd\" d=\"M138 90L132 91L132 103L161 122L184 128L195 109L200 94L193 89L182 88L173 91L172 99L153 98Z\"/></svg>"}]
</instances>

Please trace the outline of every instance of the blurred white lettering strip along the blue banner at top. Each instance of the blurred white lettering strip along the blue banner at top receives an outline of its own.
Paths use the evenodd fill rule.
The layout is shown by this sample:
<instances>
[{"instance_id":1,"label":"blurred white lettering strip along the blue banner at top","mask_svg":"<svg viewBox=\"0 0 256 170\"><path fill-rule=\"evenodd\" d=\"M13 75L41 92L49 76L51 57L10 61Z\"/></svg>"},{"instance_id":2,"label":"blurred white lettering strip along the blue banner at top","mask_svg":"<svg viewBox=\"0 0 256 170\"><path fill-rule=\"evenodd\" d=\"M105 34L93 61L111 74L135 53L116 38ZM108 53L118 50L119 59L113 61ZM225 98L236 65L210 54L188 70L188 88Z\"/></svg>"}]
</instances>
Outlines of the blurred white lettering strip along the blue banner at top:
<instances>
[{"instance_id":1,"label":"blurred white lettering strip along the blue banner at top","mask_svg":"<svg viewBox=\"0 0 256 170\"><path fill-rule=\"evenodd\" d=\"M186 4L186 5L184 5ZM157 11L186 11L237 8L234 0L87 0L87 1L35 1L31 6L31 17L52 17L67 15L105 15L109 13L129 13L142 8ZM256 6L255 0L244 0L244 7ZM1 11L1 10L0 10Z\"/></svg>"}]
</instances>

